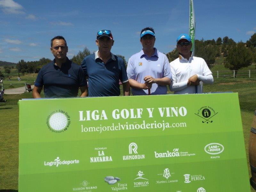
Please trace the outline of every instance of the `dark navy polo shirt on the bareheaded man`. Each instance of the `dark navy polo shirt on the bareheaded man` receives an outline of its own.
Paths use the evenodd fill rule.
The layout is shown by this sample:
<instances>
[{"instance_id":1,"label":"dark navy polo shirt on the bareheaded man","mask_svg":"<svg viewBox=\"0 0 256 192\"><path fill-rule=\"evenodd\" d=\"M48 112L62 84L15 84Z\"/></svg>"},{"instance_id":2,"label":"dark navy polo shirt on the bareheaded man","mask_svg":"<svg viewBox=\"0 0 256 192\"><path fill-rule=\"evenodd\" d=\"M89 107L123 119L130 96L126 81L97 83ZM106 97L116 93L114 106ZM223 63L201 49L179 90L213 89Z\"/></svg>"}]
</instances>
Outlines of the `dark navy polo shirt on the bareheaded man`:
<instances>
[{"instance_id":1,"label":"dark navy polo shirt on the bareheaded man","mask_svg":"<svg viewBox=\"0 0 256 192\"><path fill-rule=\"evenodd\" d=\"M77 97L79 87L86 85L83 69L67 58L59 68L55 59L43 66L37 77L35 86L44 86L46 98Z\"/></svg>"}]
</instances>

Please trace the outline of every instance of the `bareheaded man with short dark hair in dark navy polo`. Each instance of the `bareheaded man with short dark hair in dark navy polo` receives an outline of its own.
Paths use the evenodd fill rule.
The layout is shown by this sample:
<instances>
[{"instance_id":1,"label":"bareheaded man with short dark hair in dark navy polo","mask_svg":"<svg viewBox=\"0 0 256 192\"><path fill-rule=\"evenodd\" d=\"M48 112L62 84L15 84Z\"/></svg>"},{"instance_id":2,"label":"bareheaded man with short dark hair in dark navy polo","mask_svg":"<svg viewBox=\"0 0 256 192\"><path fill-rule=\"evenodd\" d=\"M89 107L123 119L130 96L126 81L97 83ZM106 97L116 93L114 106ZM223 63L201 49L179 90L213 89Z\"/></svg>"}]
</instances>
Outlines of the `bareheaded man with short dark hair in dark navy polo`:
<instances>
[{"instance_id":1,"label":"bareheaded man with short dark hair in dark navy polo","mask_svg":"<svg viewBox=\"0 0 256 192\"><path fill-rule=\"evenodd\" d=\"M68 59L68 46L64 37L52 38L51 52L55 59L39 71L33 97L41 98L43 86L46 98L76 97L79 87L81 97L87 96L88 89L83 69Z\"/></svg>"}]
</instances>

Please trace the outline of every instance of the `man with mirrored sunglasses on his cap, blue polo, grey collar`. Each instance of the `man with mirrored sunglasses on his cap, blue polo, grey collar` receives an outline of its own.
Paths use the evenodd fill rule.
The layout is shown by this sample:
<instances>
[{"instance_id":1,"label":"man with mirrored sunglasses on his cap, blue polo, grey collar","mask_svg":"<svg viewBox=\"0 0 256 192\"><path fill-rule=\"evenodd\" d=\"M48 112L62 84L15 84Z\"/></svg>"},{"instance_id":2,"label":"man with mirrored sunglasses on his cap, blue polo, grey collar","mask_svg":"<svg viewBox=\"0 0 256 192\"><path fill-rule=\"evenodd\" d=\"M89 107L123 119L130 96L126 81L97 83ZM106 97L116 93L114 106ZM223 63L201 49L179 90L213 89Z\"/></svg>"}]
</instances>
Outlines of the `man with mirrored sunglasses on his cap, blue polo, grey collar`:
<instances>
[{"instance_id":1,"label":"man with mirrored sunglasses on his cap, blue polo, grey collar","mask_svg":"<svg viewBox=\"0 0 256 192\"><path fill-rule=\"evenodd\" d=\"M90 97L119 96L119 79L123 84L124 95L130 95L124 60L110 52L113 44L110 30L99 31L96 38L99 50L82 61L81 67L85 76L88 76Z\"/></svg>"}]
</instances>

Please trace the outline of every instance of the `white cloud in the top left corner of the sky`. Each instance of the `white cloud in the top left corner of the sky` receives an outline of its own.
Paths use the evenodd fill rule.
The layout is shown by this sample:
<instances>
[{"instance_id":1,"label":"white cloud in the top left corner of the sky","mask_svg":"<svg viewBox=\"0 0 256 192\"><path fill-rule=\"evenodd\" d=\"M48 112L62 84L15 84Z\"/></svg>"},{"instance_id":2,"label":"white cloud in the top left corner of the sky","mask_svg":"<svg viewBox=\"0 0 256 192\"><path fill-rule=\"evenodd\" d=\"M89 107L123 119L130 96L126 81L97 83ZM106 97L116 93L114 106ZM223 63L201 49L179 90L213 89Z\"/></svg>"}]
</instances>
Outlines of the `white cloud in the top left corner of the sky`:
<instances>
[{"instance_id":1,"label":"white cloud in the top left corner of the sky","mask_svg":"<svg viewBox=\"0 0 256 192\"><path fill-rule=\"evenodd\" d=\"M13 0L0 0L0 7L5 13L24 14L23 7Z\"/></svg>"}]
</instances>

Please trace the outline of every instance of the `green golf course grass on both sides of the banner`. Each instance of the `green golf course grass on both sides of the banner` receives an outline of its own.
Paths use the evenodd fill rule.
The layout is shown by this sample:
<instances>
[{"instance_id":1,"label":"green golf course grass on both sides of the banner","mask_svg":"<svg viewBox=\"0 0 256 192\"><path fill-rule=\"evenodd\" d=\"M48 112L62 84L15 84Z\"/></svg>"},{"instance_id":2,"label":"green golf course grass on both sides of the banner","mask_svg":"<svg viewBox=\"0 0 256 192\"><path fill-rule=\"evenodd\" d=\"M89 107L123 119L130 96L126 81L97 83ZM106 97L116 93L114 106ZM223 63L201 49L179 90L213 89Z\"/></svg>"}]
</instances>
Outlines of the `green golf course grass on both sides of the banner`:
<instances>
[{"instance_id":1,"label":"green golf course grass on both sides of the banner","mask_svg":"<svg viewBox=\"0 0 256 192\"><path fill-rule=\"evenodd\" d=\"M254 95L256 94L256 78L215 78L214 81L213 85L204 85L204 92L232 91L239 93L248 162L250 127L254 116L254 109L256 108L254 99ZM1 189L18 190L19 108L17 102L21 98L32 98L32 93L4 95L4 97L7 103L6 105L0 106L0 122L2 125L0 126L0 191ZM249 162L248 172L251 175ZM251 191L254 191L254 189L251 188Z\"/></svg>"}]
</instances>

